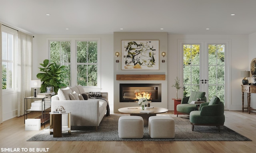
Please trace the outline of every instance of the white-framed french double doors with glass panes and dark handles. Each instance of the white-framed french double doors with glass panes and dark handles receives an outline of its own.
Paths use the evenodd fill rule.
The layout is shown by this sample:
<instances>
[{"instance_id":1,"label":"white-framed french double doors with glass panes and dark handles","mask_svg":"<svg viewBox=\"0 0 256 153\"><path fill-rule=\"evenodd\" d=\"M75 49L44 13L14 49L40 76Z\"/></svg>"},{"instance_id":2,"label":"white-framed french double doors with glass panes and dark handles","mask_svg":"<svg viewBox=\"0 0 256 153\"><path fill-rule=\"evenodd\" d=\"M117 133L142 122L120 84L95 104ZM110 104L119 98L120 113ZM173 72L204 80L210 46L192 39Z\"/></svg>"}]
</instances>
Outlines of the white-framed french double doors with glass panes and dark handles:
<instances>
[{"instance_id":1,"label":"white-framed french double doors with glass panes and dark handles","mask_svg":"<svg viewBox=\"0 0 256 153\"><path fill-rule=\"evenodd\" d=\"M204 91L208 100L216 95L225 103L227 43L181 43L183 59L183 96Z\"/></svg>"}]
</instances>

